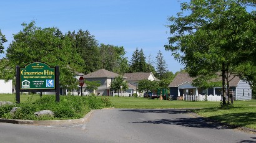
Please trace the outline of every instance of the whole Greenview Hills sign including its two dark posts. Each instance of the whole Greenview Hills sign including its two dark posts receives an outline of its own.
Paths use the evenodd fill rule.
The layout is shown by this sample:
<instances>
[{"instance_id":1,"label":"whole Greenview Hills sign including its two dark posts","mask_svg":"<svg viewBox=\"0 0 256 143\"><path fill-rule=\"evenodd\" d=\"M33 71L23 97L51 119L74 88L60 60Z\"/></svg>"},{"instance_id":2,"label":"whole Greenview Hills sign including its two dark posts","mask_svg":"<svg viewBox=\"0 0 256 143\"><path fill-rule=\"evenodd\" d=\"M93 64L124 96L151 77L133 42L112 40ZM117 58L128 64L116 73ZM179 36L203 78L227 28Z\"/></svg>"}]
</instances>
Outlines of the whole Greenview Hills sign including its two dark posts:
<instances>
[{"instance_id":1,"label":"whole Greenview Hills sign including its two dark posts","mask_svg":"<svg viewBox=\"0 0 256 143\"><path fill-rule=\"evenodd\" d=\"M16 103L21 101L20 92L53 92L59 102L59 66L49 67L47 63L28 63L24 68L16 65Z\"/></svg>"}]
</instances>

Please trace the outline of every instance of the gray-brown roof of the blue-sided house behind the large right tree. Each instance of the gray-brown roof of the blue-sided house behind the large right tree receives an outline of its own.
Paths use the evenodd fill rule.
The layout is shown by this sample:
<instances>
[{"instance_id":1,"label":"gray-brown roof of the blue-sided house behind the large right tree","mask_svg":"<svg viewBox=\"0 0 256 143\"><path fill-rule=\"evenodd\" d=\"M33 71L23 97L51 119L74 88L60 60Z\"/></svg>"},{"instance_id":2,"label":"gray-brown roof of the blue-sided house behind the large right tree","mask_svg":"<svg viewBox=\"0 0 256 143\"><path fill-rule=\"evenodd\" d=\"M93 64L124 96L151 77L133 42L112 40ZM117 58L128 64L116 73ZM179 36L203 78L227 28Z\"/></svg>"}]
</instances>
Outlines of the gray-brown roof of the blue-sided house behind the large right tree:
<instances>
[{"instance_id":1,"label":"gray-brown roof of the blue-sided house behind the large right tree","mask_svg":"<svg viewBox=\"0 0 256 143\"><path fill-rule=\"evenodd\" d=\"M233 78L234 76L231 76L230 78ZM170 82L170 85L168 87L177 87L179 85L182 85L183 83L192 83L192 81L195 78L192 78L189 76L189 73L178 73L174 80ZM222 81L222 77L220 76L218 78L219 81ZM229 86L237 86L239 84L240 78L238 76L235 76L231 81L229 81Z\"/></svg>"}]
</instances>

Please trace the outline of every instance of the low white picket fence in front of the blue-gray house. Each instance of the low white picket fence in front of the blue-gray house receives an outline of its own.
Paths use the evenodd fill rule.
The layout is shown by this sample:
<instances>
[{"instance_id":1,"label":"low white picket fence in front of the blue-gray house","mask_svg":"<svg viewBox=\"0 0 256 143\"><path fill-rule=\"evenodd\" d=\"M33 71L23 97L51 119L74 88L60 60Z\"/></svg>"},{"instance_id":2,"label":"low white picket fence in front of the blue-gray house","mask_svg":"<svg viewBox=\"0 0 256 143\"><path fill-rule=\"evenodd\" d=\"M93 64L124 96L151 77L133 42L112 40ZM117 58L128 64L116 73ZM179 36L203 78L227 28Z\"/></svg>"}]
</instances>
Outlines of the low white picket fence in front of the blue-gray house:
<instances>
[{"instance_id":1,"label":"low white picket fence in front of the blue-gray house","mask_svg":"<svg viewBox=\"0 0 256 143\"><path fill-rule=\"evenodd\" d=\"M207 98L207 99L205 99ZM183 99L185 101L221 101L222 96L219 95L184 95Z\"/></svg>"}]
</instances>

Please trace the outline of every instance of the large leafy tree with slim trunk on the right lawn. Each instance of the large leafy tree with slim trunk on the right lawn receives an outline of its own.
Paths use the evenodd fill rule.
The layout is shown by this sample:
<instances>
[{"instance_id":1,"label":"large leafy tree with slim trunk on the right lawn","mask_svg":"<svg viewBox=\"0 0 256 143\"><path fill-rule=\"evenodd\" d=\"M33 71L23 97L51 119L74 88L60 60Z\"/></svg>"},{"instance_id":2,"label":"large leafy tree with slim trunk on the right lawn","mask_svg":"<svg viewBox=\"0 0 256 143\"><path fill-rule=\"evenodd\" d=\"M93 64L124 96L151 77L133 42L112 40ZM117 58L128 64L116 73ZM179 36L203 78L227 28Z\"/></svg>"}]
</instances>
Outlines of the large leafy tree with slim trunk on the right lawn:
<instances>
[{"instance_id":1,"label":"large leafy tree with slim trunk on the right lawn","mask_svg":"<svg viewBox=\"0 0 256 143\"><path fill-rule=\"evenodd\" d=\"M182 11L177 17L169 17L167 27L173 36L165 50L172 51L190 76L210 77L221 71L222 104L226 104L230 73L237 74L236 68L253 51L256 14L246 6L254 4L246 0L194 0L180 4Z\"/></svg>"}]
</instances>

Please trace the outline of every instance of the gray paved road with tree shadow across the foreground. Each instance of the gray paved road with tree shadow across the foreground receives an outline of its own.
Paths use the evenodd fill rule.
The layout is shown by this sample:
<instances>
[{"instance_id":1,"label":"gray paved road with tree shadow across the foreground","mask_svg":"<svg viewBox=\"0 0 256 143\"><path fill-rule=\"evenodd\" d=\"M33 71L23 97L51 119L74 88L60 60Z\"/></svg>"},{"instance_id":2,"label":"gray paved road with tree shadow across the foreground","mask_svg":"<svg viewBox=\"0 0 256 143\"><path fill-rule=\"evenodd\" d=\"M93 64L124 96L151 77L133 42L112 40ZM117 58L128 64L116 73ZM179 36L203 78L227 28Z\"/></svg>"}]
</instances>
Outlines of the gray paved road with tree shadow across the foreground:
<instances>
[{"instance_id":1,"label":"gray paved road with tree shadow across the foreground","mask_svg":"<svg viewBox=\"0 0 256 143\"><path fill-rule=\"evenodd\" d=\"M102 109L86 124L32 126L0 123L0 142L256 142L174 109Z\"/></svg>"}]
</instances>

